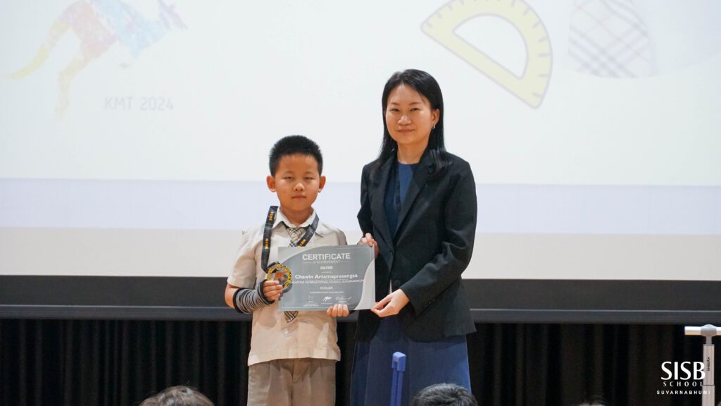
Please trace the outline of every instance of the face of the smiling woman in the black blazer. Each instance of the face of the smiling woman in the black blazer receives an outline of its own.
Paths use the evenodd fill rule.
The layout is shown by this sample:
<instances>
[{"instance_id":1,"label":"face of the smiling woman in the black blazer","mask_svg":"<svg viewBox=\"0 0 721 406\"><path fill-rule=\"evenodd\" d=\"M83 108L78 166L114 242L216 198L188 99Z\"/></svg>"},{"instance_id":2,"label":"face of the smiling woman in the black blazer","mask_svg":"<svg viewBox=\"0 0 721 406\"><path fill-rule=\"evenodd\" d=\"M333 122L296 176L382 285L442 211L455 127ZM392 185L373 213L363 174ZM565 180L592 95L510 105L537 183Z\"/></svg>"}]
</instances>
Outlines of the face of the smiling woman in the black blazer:
<instances>
[{"instance_id":1,"label":"face of the smiling woman in the black blazer","mask_svg":"<svg viewBox=\"0 0 721 406\"><path fill-rule=\"evenodd\" d=\"M440 111L433 110L428 99L413 87L401 84L388 95L386 127L399 148L425 149L439 116Z\"/></svg>"}]
</instances>

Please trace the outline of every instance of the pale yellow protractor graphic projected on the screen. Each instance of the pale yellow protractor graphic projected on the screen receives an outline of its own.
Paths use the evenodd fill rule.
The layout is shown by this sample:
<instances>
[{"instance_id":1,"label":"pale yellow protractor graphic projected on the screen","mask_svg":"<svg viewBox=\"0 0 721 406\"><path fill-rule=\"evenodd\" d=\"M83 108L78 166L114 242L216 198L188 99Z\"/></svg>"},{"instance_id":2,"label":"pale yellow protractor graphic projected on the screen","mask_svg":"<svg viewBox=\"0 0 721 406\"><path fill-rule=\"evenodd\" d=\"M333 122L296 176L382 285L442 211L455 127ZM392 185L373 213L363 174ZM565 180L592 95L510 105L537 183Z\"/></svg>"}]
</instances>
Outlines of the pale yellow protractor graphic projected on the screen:
<instances>
[{"instance_id":1,"label":"pale yellow protractor graphic projected on the screen","mask_svg":"<svg viewBox=\"0 0 721 406\"><path fill-rule=\"evenodd\" d=\"M456 29L474 17L495 16L508 21L526 43L526 66L518 77L505 66L456 34ZM490 77L532 108L543 102L551 79L552 50L546 27L525 1L451 0L421 25L423 32L448 51Z\"/></svg>"}]
</instances>

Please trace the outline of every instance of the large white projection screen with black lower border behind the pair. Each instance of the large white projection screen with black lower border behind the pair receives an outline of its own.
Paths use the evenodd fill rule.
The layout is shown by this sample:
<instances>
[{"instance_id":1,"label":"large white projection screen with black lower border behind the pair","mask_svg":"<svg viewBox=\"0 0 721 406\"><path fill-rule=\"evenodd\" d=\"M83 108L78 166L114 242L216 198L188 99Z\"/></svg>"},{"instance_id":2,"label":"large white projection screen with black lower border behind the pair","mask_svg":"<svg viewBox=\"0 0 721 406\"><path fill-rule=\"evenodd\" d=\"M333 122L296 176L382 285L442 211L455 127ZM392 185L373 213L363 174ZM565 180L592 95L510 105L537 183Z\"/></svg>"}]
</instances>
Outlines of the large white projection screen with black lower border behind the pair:
<instances>
[{"instance_id":1,"label":"large white projection screen with black lower border behind the pair","mask_svg":"<svg viewBox=\"0 0 721 406\"><path fill-rule=\"evenodd\" d=\"M477 183L477 320L719 320L719 14L704 0L2 0L0 314L233 316L240 230L276 202L270 146L319 143L315 207L358 241L381 90L416 68L441 84L446 147Z\"/></svg>"}]
</instances>

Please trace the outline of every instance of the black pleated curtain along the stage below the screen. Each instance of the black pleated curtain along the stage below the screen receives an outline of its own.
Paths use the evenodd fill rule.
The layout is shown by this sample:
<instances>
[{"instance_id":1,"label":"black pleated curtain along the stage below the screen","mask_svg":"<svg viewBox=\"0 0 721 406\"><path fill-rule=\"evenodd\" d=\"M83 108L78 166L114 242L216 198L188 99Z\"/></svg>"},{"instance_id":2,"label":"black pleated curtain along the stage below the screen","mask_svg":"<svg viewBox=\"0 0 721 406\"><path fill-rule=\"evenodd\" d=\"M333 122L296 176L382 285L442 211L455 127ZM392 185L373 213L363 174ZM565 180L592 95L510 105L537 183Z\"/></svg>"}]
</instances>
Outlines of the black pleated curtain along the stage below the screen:
<instances>
[{"instance_id":1,"label":"black pleated curtain along the stage below the screen","mask_svg":"<svg viewBox=\"0 0 721 406\"><path fill-rule=\"evenodd\" d=\"M663 386L661 363L702 358L702 338L681 326L476 327L468 346L479 405L701 404L699 395L658 393L699 389ZM338 324L339 406L348 405L354 334L355 324ZM138 405L179 384L218 406L246 405L249 338L248 321L2 319L0 405Z\"/></svg>"}]
</instances>

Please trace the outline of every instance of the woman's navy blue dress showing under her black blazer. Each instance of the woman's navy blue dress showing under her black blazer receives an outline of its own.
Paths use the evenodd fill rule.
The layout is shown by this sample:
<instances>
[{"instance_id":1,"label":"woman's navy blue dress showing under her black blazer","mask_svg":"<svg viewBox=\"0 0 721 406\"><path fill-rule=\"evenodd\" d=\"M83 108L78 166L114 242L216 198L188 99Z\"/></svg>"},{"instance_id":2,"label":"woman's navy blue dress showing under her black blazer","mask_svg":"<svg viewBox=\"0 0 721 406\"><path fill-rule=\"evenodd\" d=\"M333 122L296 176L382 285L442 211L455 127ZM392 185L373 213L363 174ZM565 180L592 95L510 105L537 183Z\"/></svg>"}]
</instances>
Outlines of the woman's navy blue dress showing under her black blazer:
<instances>
[{"instance_id":1,"label":"woman's navy blue dress showing under her black blazer","mask_svg":"<svg viewBox=\"0 0 721 406\"><path fill-rule=\"evenodd\" d=\"M397 163L386 186L384 208L389 228L396 230L403 201L417 165ZM350 404L389 405L392 355L406 355L401 405L408 405L420 389L432 384L453 383L471 391L466 336L446 337L431 342L412 340L403 332L397 316L384 317L370 341L355 344Z\"/></svg>"}]
</instances>

